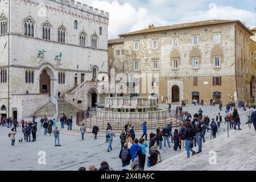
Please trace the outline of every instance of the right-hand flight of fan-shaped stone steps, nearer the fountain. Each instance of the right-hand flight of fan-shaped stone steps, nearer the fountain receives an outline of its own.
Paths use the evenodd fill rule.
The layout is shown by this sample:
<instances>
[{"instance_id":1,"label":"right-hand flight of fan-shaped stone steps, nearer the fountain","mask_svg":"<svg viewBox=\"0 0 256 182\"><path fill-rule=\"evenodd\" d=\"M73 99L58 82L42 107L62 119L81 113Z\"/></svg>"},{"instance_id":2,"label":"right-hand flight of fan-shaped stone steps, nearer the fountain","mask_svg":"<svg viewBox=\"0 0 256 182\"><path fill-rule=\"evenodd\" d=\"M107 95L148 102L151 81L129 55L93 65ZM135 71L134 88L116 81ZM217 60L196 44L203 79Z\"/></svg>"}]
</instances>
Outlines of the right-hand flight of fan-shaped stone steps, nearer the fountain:
<instances>
[{"instance_id":1,"label":"right-hand flight of fan-shaped stone steps, nearer the fountain","mask_svg":"<svg viewBox=\"0 0 256 182\"><path fill-rule=\"evenodd\" d=\"M64 99L57 99L57 102L58 102L57 121L59 121L61 113L65 113L65 115L67 115L67 117L71 117L71 115L72 115L73 118L75 118L76 117L76 112L82 111L79 107L76 107L72 104L69 104Z\"/></svg>"}]
</instances>

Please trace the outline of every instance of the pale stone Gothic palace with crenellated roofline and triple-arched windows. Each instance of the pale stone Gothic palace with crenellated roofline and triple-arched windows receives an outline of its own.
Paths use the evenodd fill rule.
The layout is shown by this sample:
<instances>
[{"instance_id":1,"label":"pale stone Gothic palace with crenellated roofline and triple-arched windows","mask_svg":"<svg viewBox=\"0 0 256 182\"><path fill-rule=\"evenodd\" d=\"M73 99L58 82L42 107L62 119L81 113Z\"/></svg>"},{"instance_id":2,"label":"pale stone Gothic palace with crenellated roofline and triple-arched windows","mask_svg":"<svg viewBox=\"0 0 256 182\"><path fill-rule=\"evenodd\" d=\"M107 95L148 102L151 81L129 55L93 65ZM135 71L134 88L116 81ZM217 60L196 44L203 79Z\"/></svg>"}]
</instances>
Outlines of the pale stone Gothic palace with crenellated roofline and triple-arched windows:
<instances>
[{"instance_id":1,"label":"pale stone Gothic palace with crenellated roofline and triple-arched windows","mask_svg":"<svg viewBox=\"0 0 256 182\"><path fill-rule=\"evenodd\" d=\"M0 23L1 116L28 117L108 72L109 13L73 0L0 0ZM84 106L100 99L86 94Z\"/></svg>"}]
</instances>

